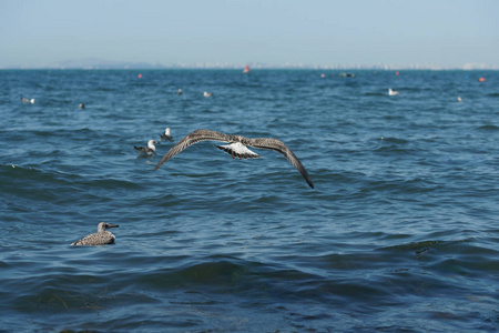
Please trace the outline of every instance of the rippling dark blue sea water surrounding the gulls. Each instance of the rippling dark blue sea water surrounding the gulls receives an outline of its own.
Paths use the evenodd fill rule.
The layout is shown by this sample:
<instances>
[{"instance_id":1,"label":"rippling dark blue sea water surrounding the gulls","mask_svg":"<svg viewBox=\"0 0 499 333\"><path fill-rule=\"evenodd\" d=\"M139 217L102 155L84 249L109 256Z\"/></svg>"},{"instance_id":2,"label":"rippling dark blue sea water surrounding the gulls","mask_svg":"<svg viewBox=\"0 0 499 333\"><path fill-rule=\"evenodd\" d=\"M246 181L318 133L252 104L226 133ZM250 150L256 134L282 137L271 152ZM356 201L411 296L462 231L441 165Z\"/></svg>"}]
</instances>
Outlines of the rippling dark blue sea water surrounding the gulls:
<instances>
[{"instance_id":1,"label":"rippling dark blue sea water surrounding the gulls","mask_svg":"<svg viewBox=\"0 0 499 333\"><path fill-rule=\"evenodd\" d=\"M320 73L0 71L0 330L497 331L499 72Z\"/></svg>"}]
</instances>

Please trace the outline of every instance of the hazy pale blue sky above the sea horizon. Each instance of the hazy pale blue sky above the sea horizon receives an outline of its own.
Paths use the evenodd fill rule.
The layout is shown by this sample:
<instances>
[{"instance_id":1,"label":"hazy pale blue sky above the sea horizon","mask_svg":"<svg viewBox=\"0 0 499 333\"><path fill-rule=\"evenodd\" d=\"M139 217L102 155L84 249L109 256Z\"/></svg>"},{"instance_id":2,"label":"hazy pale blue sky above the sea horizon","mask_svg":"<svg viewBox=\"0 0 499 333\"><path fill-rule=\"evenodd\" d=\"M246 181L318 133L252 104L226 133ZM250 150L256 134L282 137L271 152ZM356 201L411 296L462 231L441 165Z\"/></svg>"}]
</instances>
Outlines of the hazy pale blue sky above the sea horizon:
<instances>
[{"instance_id":1,"label":"hazy pale blue sky above the sea horizon","mask_svg":"<svg viewBox=\"0 0 499 333\"><path fill-rule=\"evenodd\" d=\"M0 0L0 68L101 58L499 65L499 1Z\"/></svg>"}]
</instances>

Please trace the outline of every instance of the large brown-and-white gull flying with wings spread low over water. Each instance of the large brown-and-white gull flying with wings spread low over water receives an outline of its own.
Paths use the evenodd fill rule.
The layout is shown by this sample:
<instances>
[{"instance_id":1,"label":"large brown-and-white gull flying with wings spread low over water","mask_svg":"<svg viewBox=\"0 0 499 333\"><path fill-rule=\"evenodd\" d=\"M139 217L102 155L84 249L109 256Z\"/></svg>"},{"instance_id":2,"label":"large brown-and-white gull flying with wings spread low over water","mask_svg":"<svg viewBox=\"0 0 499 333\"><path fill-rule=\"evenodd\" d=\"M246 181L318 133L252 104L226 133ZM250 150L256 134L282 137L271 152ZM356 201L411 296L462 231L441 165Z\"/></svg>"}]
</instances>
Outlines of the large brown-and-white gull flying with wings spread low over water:
<instances>
[{"instance_id":1,"label":"large brown-and-white gull flying with wings spread low over water","mask_svg":"<svg viewBox=\"0 0 499 333\"><path fill-rule=\"evenodd\" d=\"M222 141L227 142L227 145L217 145L216 148L227 152L232 158L241 159L256 159L259 158L258 154L254 153L246 145L258 148L258 149L268 149L275 150L283 154L292 164L299 171L308 185L314 189L314 184L305 170L299 162L298 158L292 152L292 150L284 144L281 140L272 139L272 138L258 138L258 139L248 139L241 135L230 135L221 132L210 131L210 130L197 130L190 134L187 134L184 139L179 141L175 145L173 145L170 151L161 159L161 161L156 164L154 170L157 170L164 162L172 159L177 153L182 152L187 147L201 142L201 141Z\"/></svg>"}]
</instances>

